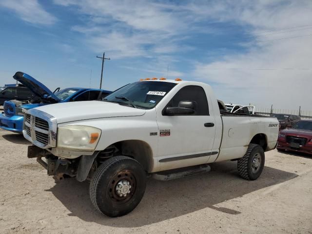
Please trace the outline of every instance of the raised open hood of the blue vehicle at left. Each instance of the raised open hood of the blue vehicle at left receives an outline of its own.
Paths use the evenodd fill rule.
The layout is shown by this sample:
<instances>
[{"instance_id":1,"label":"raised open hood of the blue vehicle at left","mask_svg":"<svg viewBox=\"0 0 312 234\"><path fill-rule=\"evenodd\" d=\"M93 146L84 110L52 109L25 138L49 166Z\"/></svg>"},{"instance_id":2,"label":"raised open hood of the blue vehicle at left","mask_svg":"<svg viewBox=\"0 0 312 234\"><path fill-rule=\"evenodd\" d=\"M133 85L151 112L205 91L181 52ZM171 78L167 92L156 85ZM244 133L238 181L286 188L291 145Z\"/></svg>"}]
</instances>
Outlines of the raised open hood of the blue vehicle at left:
<instances>
[{"instance_id":1,"label":"raised open hood of the blue vehicle at left","mask_svg":"<svg viewBox=\"0 0 312 234\"><path fill-rule=\"evenodd\" d=\"M23 72L17 72L13 76L14 79L19 81L21 84L25 85L28 89L30 89L35 95L40 98L45 99L54 99L55 101L59 102L60 99L53 94L51 90L49 90L45 85L40 83L37 79L27 75Z\"/></svg>"}]
</instances>

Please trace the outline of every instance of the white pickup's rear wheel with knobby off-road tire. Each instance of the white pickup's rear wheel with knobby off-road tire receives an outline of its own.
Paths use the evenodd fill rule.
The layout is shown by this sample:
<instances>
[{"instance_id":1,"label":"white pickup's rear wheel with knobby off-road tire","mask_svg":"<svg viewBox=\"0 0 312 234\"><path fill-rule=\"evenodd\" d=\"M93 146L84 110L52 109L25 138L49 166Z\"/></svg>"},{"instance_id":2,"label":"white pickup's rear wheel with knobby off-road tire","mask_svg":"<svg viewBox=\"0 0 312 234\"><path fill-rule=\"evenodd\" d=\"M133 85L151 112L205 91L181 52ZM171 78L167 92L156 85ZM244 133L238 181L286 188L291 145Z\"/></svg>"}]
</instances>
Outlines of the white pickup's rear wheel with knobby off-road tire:
<instances>
[{"instance_id":1,"label":"white pickup's rear wheel with knobby off-road tire","mask_svg":"<svg viewBox=\"0 0 312 234\"><path fill-rule=\"evenodd\" d=\"M260 145L249 144L246 154L238 159L238 174L244 179L257 179L264 168L264 151Z\"/></svg>"}]
</instances>

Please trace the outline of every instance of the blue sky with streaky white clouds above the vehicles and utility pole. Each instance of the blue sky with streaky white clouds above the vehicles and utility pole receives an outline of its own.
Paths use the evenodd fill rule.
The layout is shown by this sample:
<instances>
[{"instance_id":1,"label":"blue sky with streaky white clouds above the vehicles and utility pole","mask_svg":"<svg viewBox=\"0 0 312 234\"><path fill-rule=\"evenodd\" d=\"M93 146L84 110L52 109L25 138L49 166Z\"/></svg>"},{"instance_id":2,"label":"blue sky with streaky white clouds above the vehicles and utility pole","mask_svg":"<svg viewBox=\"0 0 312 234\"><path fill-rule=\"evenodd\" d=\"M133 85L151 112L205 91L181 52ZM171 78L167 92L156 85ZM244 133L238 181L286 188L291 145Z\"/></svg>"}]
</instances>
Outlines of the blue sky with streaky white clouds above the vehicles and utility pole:
<instances>
[{"instance_id":1,"label":"blue sky with streaky white clouds above the vehicles and utility pole","mask_svg":"<svg viewBox=\"0 0 312 234\"><path fill-rule=\"evenodd\" d=\"M105 89L179 77L224 102L312 110L311 12L311 0L1 0L0 84L23 71L89 87L92 70L98 87L105 51Z\"/></svg>"}]
</instances>

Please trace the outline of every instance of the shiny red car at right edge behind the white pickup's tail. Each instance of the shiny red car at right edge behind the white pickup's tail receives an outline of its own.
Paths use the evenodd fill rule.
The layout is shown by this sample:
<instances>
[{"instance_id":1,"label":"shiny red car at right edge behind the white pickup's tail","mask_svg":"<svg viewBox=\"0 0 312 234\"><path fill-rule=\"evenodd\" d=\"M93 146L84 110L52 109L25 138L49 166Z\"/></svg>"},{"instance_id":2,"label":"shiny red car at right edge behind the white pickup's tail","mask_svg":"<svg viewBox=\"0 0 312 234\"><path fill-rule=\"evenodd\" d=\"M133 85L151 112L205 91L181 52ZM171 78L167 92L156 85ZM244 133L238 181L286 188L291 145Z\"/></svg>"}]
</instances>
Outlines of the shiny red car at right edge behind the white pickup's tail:
<instances>
[{"instance_id":1,"label":"shiny red car at right edge behind the white pickup's tail","mask_svg":"<svg viewBox=\"0 0 312 234\"><path fill-rule=\"evenodd\" d=\"M277 150L312 154L312 120L300 120L279 132Z\"/></svg>"}]
</instances>

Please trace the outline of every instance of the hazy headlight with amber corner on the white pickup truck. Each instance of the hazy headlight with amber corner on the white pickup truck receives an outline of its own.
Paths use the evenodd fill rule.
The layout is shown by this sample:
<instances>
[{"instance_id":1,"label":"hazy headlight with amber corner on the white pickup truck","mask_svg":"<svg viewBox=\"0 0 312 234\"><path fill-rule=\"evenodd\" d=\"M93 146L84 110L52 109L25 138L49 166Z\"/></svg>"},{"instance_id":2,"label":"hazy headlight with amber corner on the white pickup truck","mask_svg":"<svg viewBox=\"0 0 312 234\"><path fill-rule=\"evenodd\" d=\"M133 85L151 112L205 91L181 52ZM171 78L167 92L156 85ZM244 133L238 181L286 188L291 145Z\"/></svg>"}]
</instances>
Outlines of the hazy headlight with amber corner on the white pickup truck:
<instances>
[{"instance_id":1,"label":"hazy headlight with amber corner on the white pickup truck","mask_svg":"<svg viewBox=\"0 0 312 234\"><path fill-rule=\"evenodd\" d=\"M58 147L95 150L101 130L90 126L68 125L58 128Z\"/></svg>"}]
</instances>

